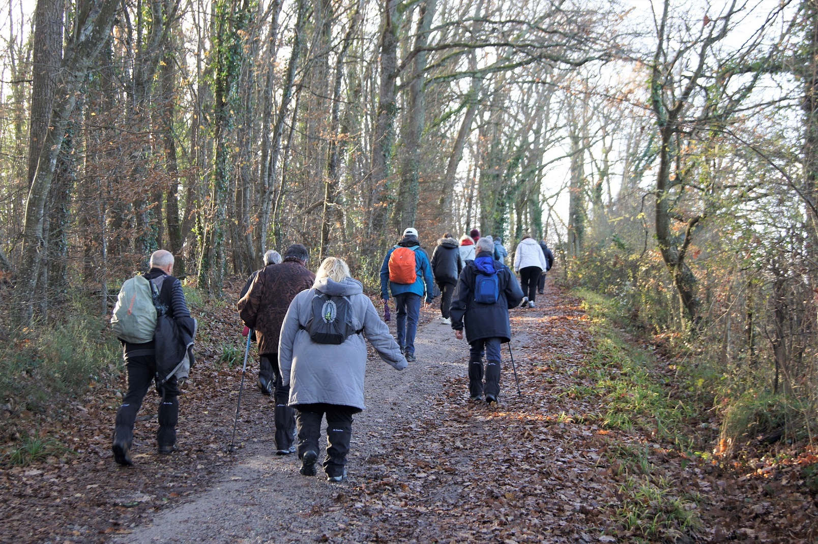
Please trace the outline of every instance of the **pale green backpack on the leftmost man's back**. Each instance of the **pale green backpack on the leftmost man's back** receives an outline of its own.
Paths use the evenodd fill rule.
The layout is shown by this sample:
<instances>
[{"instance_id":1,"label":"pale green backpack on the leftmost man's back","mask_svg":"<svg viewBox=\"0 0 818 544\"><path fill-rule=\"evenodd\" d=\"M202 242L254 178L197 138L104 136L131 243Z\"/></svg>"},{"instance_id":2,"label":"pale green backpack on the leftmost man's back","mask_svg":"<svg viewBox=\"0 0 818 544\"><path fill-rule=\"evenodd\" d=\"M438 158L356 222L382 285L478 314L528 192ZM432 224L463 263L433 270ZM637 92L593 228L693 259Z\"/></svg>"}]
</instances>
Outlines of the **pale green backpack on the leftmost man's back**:
<instances>
[{"instance_id":1,"label":"pale green backpack on the leftmost man's back","mask_svg":"<svg viewBox=\"0 0 818 544\"><path fill-rule=\"evenodd\" d=\"M164 276L160 278L164 280ZM131 344L151 342L156 331L155 301L158 299L156 285L145 276L137 274L125 281L110 318L116 337Z\"/></svg>"}]
</instances>

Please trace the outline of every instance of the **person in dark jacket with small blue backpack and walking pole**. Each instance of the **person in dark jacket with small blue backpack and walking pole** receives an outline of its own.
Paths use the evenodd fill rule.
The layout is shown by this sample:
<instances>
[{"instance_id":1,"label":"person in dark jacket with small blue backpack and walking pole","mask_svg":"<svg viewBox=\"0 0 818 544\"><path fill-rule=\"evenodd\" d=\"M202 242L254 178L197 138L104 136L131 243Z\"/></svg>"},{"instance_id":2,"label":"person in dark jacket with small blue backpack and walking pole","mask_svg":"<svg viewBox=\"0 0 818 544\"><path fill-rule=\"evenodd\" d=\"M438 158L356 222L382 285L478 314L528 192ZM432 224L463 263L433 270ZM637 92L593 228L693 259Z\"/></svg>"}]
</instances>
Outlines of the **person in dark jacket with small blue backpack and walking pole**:
<instances>
[{"instance_id":1,"label":"person in dark jacket with small blue backpack and walking pole","mask_svg":"<svg viewBox=\"0 0 818 544\"><path fill-rule=\"evenodd\" d=\"M479 400L483 391L486 402L497 402L500 394L500 347L511 341L509 309L519 305L523 299L517 278L505 264L492 258L494 244L486 239L477 242L477 259L466 263L457 281L452 300L452 329L456 339L465 338L469 349L469 394L472 400ZM477 301L477 281L490 281L488 276L497 277L497 299L494 303ZM493 278L492 278L493 279ZM481 294L485 287L481 285ZM485 385L483 385L483 353L486 354Z\"/></svg>"}]
</instances>

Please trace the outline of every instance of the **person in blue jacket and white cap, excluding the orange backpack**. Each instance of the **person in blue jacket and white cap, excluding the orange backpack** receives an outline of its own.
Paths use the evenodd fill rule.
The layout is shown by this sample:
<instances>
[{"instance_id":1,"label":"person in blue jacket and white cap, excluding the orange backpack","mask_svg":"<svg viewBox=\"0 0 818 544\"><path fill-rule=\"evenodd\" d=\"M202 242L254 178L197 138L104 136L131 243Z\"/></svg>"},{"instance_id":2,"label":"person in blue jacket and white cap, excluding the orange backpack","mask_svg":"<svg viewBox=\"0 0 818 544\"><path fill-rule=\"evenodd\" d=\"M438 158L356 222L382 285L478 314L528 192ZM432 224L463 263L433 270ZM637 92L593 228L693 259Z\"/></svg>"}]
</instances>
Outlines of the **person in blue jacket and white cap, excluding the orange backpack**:
<instances>
[{"instance_id":1,"label":"person in blue jacket and white cap, excluding the orange backpack","mask_svg":"<svg viewBox=\"0 0 818 544\"><path fill-rule=\"evenodd\" d=\"M414 283L395 283L389 278L389 258L394 250L399 247L406 247L415 252L415 272ZM420 249L420 242L417 240L417 230L409 227L403 231L403 239L398 242L384 257L384 264L380 267L380 298L386 303L389 300L389 291L395 298L395 307L398 308L398 345L407 357L408 362L415 361L415 334L417 332L417 319L420 316L420 299L426 296L426 303L432 303L434 299L434 286L432 283L432 267L429 264L429 257L426 252Z\"/></svg>"}]
</instances>

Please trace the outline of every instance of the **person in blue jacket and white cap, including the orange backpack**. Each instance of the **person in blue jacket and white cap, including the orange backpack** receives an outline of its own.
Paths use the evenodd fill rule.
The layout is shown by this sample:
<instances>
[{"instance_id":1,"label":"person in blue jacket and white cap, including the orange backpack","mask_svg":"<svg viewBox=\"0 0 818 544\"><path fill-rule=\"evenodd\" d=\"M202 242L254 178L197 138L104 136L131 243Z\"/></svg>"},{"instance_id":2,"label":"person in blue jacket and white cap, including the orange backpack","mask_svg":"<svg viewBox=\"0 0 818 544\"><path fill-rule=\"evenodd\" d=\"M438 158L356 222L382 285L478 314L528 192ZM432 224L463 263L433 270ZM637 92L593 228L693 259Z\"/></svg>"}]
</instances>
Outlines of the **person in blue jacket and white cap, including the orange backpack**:
<instances>
[{"instance_id":1,"label":"person in blue jacket and white cap, including the orange backpack","mask_svg":"<svg viewBox=\"0 0 818 544\"><path fill-rule=\"evenodd\" d=\"M415 361L415 334L420 316L420 301L434 299L434 283L429 257L420 248L417 230L408 227L403 239L386 253L380 267L380 298L389 300L389 292L398 308L398 345L408 362Z\"/></svg>"}]
</instances>

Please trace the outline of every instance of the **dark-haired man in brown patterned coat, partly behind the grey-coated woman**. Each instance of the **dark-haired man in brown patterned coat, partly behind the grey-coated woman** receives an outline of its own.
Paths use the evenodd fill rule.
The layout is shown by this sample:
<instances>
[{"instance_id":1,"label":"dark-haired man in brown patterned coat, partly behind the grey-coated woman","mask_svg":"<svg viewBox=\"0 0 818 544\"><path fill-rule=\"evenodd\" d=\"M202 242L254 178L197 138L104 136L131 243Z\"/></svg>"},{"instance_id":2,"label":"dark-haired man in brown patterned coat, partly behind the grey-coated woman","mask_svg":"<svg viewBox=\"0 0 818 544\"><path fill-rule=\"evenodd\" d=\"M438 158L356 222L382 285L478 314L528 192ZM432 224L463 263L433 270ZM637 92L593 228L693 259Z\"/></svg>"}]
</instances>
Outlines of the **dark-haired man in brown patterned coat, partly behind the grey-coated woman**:
<instances>
[{"instance_id":1,"label":"dark-haired man in brown patterned coat, partly behind the grey-coated woman","mask_svg":"<svg viewBox=\"0 0 818 544\"><path fill-rule=\"evenodd\" d=\"M308 258L309 252L303 245L290 245L285 251L284 261L276 266L262 268L247 294L238 303L241 321L256 330L261 364L272 370L277 455L295 451L295 414L287 406L290 387L281 379L278 368L278 340L281 323L287 308L290 308L290 302L296 294L312 287L312 282L315 281L315 274L307 269Z\"/></svg>"}]
</instances>

